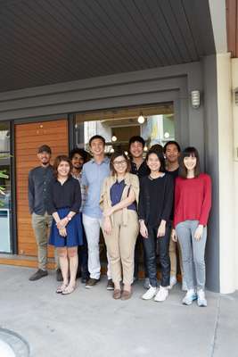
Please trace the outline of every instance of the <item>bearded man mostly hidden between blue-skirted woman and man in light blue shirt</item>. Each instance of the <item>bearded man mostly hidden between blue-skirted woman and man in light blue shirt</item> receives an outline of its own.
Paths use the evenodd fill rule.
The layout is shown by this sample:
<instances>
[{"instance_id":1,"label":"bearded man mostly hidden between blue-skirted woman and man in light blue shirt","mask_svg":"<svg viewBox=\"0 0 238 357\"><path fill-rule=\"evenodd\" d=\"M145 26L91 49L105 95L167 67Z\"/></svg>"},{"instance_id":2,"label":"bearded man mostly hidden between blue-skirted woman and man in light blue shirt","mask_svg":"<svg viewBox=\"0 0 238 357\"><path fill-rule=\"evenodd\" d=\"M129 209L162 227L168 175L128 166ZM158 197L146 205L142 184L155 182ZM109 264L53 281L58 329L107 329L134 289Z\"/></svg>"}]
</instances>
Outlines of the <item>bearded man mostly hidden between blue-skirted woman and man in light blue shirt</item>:
<instances>
[{"instance_id":1,"label":"bearded man mostly hidden between blue-skirted woman and man in light blue shirt","mask_svg":"<svg viewBox=\"0 0 238 357\"><path fill-rule=\"evenodd\" d=\"M81 187L81 198L82 204L80 207L80 216L82 220L82 209L86 201L86 188L82 185L82 169L84 163L87 161L87 153L83 149L73 149L70 151L70 161L72 162L73 170L72 176L75 179L78 179ZM89 278L89 272L87 269L87 243L86 243L86 233L83 227L83 245L78 246L78 274L81 275L81 281L83 284L86 284L87 279Z\"/></svg>"}]
</instances>

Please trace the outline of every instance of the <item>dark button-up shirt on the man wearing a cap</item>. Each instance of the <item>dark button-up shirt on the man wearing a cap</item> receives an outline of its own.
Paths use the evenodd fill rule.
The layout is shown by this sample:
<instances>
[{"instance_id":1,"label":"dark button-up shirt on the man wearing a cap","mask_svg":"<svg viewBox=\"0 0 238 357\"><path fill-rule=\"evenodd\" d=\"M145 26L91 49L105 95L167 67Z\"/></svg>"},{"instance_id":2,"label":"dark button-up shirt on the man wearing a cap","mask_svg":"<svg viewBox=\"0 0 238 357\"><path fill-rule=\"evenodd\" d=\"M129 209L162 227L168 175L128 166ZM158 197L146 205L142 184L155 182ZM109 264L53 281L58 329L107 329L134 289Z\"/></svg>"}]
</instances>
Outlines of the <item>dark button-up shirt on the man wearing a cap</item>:
<instances>
[{"instance_id":1,"label":"dark button-up shirt on the man wearing a cap","mask_svg":"<svg viewBox=\"0 0 238 357\"><path fill-rule=\"evenodd\" d=\"M29 171L29 212L44 215L49 200L49 186L53 179L53 167L38 166Z\"/></svg>"}]
</instances>

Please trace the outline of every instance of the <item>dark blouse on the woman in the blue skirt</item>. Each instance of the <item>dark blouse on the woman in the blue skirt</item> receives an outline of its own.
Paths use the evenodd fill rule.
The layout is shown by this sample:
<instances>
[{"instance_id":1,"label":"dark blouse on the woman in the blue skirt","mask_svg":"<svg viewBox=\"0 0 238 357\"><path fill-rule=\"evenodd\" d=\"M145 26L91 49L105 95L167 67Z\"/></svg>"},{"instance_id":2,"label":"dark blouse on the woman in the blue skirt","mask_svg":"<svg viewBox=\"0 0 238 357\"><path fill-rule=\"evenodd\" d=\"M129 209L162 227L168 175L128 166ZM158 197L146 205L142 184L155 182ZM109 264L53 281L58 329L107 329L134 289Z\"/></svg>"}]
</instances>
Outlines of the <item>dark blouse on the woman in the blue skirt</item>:
<instances>
[{"instance_id":1,"label":"dark blouse on the woman in the blue skirt","mask_svg":"<svg viewBox=\"0 0 238 357\"><path fill-rule=\"evenodd\" d=\"M78 179L70 176L63 184L53 179L50 185L48 213L53 214L60 208L70 208L72 212L79 212L81 206L81 189Z\"/></svg>"}]
</instances>

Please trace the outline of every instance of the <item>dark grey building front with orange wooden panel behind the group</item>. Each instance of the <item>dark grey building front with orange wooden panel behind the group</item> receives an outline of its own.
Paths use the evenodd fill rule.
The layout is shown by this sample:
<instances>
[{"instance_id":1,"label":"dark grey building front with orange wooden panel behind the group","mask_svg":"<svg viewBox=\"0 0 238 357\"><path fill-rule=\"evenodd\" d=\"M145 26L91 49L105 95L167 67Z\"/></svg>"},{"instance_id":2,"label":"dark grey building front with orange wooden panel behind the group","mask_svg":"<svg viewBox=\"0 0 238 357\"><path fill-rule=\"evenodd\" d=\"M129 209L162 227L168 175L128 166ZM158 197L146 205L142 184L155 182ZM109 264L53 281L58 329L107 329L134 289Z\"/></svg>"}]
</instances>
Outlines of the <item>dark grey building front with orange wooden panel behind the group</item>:
<instances>
[{"instance_id":1,"label":"dark grey building front with orange wooden panel behind the group","mask_svg":"<svg viewBox=\"0 0 238 357\"><path fill-rule=\"evenodd\" d=\"M86 145L88 122L96 120L111 128L111 150L110 136L122 133L123 126L136 130L133 120L143 112L147 122L163 116L149 141L167 116L160 140L166 134L165 141L173 137L183 147L198 148L213 181L207 286L233 292L238 288L238 62L232 25L237 19L229 14L236 2L56 3L10 1L2 12L0 169L9 171L10 180L1 209L0 262L36 263L29 258L36 246L27 177L37 146L47 142L53 154L67 154ZM199 105L192 102L193 91L200 93Z\"/></svg>"}]
</instances>

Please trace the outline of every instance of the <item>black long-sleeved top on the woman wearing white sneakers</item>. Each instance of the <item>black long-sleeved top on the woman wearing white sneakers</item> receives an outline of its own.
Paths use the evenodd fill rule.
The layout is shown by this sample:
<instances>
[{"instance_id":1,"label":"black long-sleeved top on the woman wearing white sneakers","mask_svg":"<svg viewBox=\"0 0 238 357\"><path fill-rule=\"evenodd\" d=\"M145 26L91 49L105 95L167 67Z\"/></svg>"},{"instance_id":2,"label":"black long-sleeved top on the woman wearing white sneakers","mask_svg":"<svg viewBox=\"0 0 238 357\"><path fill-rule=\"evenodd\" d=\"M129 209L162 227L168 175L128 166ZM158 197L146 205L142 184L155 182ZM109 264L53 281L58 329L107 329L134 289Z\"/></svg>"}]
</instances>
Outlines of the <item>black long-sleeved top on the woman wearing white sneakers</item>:
<instances>
[{"instance_id":1,"label":"black long-sleeved top on the woman wearing white sneakers","mask_svg":"<svg viewBox=\"0 0 238 357\"><path fill-rule=\"evenodd\" d=\"M158 179L141 179L139 219L150 226L159 226L161 220L170 220L174 200L174 179L167 173Z\"/></svg>"}]
</instances>

